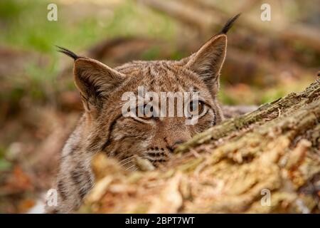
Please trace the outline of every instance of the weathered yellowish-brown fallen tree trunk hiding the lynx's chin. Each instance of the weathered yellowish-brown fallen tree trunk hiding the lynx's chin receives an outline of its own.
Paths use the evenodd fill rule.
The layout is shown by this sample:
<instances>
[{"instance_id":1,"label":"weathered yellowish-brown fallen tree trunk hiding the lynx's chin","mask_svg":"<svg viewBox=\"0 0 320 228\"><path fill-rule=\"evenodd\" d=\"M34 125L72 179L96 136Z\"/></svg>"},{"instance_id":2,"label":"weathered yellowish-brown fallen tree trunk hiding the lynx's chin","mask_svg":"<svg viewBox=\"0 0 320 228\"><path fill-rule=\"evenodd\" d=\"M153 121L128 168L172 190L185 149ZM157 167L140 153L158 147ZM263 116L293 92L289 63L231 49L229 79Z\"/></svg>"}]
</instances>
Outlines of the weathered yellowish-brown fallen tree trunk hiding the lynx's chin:
<instances>
[{"instance_id":1,"label":"weathered yellowish-brown fallen tree trunk hiding the lynx's chin","mask_svg":"<svg viewBox=\"0 0 320 228\"><path fill-rule=\"evenodd\" d=\"M154 170L128 172L100 154L80 212L319 213L320 81L225 120Z\"/></svg>"}]
</instances>

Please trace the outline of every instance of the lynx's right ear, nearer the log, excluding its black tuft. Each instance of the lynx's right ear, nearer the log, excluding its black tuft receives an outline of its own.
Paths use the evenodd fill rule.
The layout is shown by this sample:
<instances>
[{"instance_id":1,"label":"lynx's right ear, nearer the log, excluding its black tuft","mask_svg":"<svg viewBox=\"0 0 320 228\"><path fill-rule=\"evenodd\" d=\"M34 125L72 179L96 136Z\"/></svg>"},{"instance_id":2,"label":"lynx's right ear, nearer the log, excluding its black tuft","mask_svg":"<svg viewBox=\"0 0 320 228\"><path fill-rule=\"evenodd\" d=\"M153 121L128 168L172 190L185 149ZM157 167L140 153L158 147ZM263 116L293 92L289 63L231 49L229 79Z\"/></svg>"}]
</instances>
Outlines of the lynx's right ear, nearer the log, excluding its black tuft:
<instances>
[{"instance_id":1,"label":"lynx's right ear, nearer the log, excluding its black tuft","mask_svg":"<svg viewBox=\"0 0 320 228\"><path fill-rule=\"evenodd\" d=\"M213 93L218 90L220 75L227 51L227 36L213 36L188 59L186 67L198 74Z\"/></svg>"}]
</instances>

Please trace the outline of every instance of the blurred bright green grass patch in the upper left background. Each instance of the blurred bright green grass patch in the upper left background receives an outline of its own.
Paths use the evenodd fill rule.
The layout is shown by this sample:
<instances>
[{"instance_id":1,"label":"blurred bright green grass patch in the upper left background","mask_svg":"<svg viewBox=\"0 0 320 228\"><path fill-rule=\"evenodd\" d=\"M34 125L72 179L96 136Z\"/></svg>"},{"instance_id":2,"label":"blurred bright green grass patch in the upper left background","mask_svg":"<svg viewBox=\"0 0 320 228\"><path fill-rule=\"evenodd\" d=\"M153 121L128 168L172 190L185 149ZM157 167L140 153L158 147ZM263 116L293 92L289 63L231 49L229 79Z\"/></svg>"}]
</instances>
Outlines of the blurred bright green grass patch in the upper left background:
<instances>
[{"instance_id":1,"label":"blurred bright green grass patch in the upper left background","mask_svg":"<svg viewBox=\"0 0 320 228\"><path fill-rule=\"evenodd\" d=\"M0 19L4 22L1 43L53 54L54 45L83 50L114 36L146 35L166 39L174 36L174 24L168 16L140 9L132 1L116 6L112 16L97 17L90 11L75 20L70 19L68 11L85 9L77 4L70 7L57 2L58 21L48 21L46 7L51 2L55 1L1 0Z\"/></svg>"}]
</instances>

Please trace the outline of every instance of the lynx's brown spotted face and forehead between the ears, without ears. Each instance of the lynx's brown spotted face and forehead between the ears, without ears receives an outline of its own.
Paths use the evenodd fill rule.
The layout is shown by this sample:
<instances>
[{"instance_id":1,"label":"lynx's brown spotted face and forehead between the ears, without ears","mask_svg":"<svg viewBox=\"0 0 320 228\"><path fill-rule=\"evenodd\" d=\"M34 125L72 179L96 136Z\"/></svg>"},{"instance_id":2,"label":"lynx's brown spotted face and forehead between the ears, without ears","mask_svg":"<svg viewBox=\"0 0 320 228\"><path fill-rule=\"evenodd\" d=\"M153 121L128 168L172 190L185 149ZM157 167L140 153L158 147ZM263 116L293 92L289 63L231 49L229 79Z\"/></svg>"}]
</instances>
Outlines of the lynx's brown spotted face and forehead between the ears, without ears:
<instances>
[{"instance_id":1,"label":"lynx's brown spotted face and forehead between the ears, without ears","mask_svg":"<svg viewBox=\"0 0 320 228\"><path fill-rule=\"evenodd\" d=\"M112 119L110 137L104 150L119 157L121 164L127 168L134 168L130 158L135 155L146 158L157 166L169 159L178 144L221 121L220 108L215 100L216 88L206 85L201 77L186 68L183 62L134 62L117 68L117 71L124 73L128 77L127 81L121 90L110 96L110 102L103 105L99 119L100 123L105 125L107 113L112 107L115 118ZM198 111L198 122L187 125L186 117L178 117L177 112L174 117L124 117L121 115L124 105L121 96L126 91L134 91L137 95L138 86L143 86L145 90L152 91L159 97L164 92L198 92L198 100L190 100L185 104L191 106L191 111ZM174 104L175 109L177 102L176 100ZM169 110L169 103L164 105L166 110Z\"/></svg>"}]
</instances>

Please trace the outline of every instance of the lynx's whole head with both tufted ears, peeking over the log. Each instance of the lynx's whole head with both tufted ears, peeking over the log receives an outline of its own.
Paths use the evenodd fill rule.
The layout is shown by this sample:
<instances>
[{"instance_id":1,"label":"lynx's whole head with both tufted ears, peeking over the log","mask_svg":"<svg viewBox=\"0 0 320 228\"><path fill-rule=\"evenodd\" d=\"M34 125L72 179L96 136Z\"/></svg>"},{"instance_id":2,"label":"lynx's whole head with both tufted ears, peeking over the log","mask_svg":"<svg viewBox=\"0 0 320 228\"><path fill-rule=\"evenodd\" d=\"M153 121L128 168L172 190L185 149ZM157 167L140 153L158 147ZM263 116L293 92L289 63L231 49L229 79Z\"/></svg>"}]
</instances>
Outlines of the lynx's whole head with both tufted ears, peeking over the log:
<instances>
[{"instance_id":1,"label":"lynx's whole head with both tufted ears, peeking over the log","mask_svg":"<svg viewBox=\"0 0 320 228\"><path fill-rule=\"evenodd\" d=\"M86 152L105 151L118 157L121 164L134 169L132 157L143 157L159 165L171 157L174 149L196 133L216 125L223 120L217 102L220 70L225 60L227 36L233 21L230 19L218 35L210 38L193 55L181 61L133 61L117 68L110 68L91 58L76 56L65 48L60 51L75 59L75 85L80 91L85 108L82 126L82 147ZM183 100L189 117L196 115L195 124L186 124L188 116L123 115L128 100L125 93L138 96L138 87L159 95L161 93L197 92L198 99ZM149 112L158 110L163 100L142 103ZM178 98L174 100L174 108ZM137 103L137 110L141 108ZM176 114L177 112L174 111Z\"/></svg>"}]
</instances>

